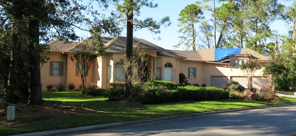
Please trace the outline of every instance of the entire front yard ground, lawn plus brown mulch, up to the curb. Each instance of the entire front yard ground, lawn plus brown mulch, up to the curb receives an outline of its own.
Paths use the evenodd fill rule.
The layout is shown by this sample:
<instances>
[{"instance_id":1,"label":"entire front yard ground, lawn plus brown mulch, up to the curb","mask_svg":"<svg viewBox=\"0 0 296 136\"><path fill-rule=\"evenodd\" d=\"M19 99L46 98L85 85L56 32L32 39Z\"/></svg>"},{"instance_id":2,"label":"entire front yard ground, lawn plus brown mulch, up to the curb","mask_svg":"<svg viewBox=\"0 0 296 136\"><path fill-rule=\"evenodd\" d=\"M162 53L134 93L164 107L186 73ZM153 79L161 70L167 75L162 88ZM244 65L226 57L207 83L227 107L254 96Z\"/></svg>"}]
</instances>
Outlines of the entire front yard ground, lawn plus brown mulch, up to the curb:
<instances>
[{"instance_id":1,"label":"entire front yard ground, lawn plus brown mulch, up to the curb","mask_svg":"<svg viewBox=\"0 0 296 136\"><path fill-rule=\"evenodd\" d=\"M16 120L14 122L6 121L6 111L0 110L0 135L24 134L207 111L296 103L296 98L293 97L282 97L284 101L276 103L226 99L141 104L140 102L129 103L127 101L107 102L103 96L85 97L81 96L81 92L42 92L42 96L45 100L44 106L17 106Z\"/></svg>"}]
</instances>

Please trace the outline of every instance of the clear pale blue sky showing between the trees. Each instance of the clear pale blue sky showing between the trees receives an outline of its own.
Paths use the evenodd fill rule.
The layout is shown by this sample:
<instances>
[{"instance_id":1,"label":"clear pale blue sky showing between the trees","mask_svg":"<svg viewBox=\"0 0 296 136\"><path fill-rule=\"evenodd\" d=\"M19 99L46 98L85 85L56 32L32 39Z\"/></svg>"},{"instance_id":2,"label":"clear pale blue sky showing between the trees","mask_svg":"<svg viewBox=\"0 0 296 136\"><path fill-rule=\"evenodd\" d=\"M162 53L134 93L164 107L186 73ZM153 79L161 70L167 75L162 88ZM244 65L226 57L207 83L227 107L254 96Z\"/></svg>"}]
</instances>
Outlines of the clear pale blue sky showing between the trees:
<instances>
[{"instance_id":1,"label":"clear pale blue sky showing between the trees","mask_svg":"<svg viewBox=\"0 0 296 136\"><path fill-rule=\"evenodd\" d=\"M155 20L160 20L164 16L169 16L170 20L172 22L171 26L168 27L161 27L160 31L161 33L158 35L153 35L155 38L160 36L160 40L155 40L153 36L151 35L150 31L147 29L137 30L134 31L134 36L137 38L143 38L145 40L148 40L155 45L158 45L165 49L175 49L173 46L178 44L180 35L177 31L179 30L178 25L178 18L179 13L184 7L186 7L189 4L194 3L196 0L154 0L154 3L158 3L157 8L147 8L143 7L140 9L141 15L137 18L139 19L145 19L146 17L152 17ZM291 5L292 1L283 1L279 0L281 4L284 5ZM216 7L219 7L221 3L217 3ZM109 10L106 12L106 15L109 16L112 7L109 7ZM206 19L210 19L210 13L204 12L204 16ZM271 24L272 30L278 30L279 34L286 34L287 32L287 26L284 21L275 21ZM90 36L88 32L83 32L76 30L76 33L84 38L87 38ZM216 35L219 33L217 32ZM126 30L123 30L122 36L126 36ZM216 36L218 38L218 36ZM177 48L177 50L184 50L184 46L181 46Z\"/></svg>"}]
</instances>

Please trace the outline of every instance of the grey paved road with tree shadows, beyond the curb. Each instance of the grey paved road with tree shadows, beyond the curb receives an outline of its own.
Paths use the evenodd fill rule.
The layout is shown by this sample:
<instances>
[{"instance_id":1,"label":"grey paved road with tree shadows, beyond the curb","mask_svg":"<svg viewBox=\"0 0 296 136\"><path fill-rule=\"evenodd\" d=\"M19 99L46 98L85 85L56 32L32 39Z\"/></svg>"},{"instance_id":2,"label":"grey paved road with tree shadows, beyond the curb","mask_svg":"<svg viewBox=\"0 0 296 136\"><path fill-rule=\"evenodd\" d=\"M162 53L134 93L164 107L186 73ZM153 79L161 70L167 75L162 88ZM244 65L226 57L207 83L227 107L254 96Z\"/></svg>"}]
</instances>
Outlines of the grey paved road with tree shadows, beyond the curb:
<instances>
[{"instance_id":1,"label":"grey paved road with tree shadows, beyond the curb","mask_svg":"<svg viewBox=\"0 0 296 136\"><path fill-rule=\"evenodd\" d=\"M98 129L72 135L291 135L296 133L296 106L246 110L200 117Z\"/></svg>"}]
</instances>

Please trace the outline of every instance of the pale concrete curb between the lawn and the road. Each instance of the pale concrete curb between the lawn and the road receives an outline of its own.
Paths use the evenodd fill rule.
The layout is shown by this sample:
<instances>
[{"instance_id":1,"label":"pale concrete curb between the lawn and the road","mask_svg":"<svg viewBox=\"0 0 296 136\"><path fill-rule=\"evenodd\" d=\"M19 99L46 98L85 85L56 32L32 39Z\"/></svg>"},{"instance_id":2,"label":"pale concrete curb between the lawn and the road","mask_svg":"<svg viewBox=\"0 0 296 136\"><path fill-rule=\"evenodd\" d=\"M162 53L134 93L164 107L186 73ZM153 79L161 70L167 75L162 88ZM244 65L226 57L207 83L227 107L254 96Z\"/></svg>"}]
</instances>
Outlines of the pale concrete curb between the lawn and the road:
<instances>
[{"instance_id":1,"label":"pale concrete curb between the lawn and the road","mask_svg":"<svg viewBox=\"0 0 296 136\"><path fill-rule=\"evenodd\" d=\"M131 121L116 122L116 123L101 124L101 125L93 125L93 126L85 126L85 127L78 127L78 128L59 129L59 130L51 130L51 131L44 131L44 132L19 134L19 135L13 135L13 136L56 135L56 134L78 132L78 131L85 131L85 130L118 127L118 126L130 125L130 124L140 124L140 123L148 123L148 122L155 122L155 121L162 121L162 120L172 120L172 119L179 119L179 118L187 118L187 117L193 117L193 116L212 115L212 114L219 114L219 113L228 113L228 112L236 112L236 111L243 111L243 110L254 110L254 109L290 106L290 105L296 105L296 103L270 105L270 106L258 106L258 107L249 107L249 108L241 108L241 109L233 109L233 110L219 110L219 111L201 112L201 113L193 113L193 114L184 114L184 115L174 115L174 116L166 116L166 117L149 118L149 119L142 119L142 120L131 120Z\"/></svg>"}]
</instances>

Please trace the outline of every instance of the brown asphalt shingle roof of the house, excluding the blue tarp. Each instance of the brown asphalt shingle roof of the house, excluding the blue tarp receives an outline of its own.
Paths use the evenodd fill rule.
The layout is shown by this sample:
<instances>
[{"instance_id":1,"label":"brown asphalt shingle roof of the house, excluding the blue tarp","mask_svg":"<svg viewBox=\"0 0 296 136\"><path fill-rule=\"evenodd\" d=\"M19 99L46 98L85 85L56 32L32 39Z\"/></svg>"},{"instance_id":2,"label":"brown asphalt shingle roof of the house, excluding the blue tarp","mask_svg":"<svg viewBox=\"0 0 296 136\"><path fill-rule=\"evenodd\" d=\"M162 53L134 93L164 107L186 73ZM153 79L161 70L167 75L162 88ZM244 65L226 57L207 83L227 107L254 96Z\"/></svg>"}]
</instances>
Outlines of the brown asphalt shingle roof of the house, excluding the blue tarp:
<instances>
[{"instance_id":1,"label":"brown asphalt shingle roof of the house, excluding the blue tarp","mask_svg":"<svg viewBox=\"0 0 296 136\"><path fill-rule=\"evenodd\" d=\"M89 37L87 40L92 40L93 37ZM53 51L74 51L79 48L80 45L88 44L86 41L82 42L64 42L54 41L50 43L53 47ZM103 37L102 42L107 48L107 52L122 53L126 49L126 37L117 37L115 39L109 37ZM166 57L177 57L185 60L196 60L196 61L215 61L215 49L200 49L196 52L181 51L181 50L166 50L157 46L147 40L140 38L133 38L133 47L137 49L155 50L158 56ZM242 48L241 54L251 54L259 60L268 60L267 57L251 50L249 48Z\"/></svg>"}]
</instances>

